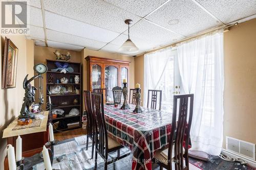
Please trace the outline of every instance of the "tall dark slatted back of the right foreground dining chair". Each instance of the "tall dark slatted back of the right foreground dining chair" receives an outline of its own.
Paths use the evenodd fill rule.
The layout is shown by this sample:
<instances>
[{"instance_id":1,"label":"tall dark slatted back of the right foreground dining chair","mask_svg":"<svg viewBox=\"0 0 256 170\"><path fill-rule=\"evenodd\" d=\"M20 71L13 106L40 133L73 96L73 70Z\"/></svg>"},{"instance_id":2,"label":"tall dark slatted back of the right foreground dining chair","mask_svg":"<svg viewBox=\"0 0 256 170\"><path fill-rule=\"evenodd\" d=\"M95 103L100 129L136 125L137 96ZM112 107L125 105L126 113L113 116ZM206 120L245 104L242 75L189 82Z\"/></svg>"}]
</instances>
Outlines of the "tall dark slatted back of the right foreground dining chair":
<instances>
[{"instance_id":1,"label":"tall dark slatted back of the right foreground dining chair","mask_svg":"<svg viewBox=\"0 0 256 170\"><path fill-rule=\"evenodd\" d=\"M179 106L177 104L179 102ZM174 95L172 130L168 147L168 160L177 161L175 169L188 169L188 142L193 117L194 94ZM178 115L178 122L177 122ZM188 120L187 120L188 117ZM172 156L174 145L174 155ZM183 154L183 147L185 153ZM185 167L183 163L185 159ZM168 163L169 169L172 162Z\"/></svg>"}]
</instances>

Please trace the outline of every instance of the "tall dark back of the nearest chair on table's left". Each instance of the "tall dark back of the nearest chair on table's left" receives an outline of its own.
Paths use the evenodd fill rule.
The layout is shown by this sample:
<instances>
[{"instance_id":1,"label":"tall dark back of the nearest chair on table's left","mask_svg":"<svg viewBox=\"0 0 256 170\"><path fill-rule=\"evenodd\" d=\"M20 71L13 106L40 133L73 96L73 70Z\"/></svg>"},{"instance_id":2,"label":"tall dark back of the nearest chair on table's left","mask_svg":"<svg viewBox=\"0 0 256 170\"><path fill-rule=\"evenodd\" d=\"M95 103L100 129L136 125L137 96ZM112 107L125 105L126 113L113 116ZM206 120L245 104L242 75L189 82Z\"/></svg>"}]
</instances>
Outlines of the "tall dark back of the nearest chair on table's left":
<instances>
[{"instance_id":1,"label":"tall dark back of the nearest chair on table's left","mask_svg":"<svg viewBox=\"0 0 256 170\"><path fill-rule=\"evenodd\" d=\"M95 149L102 156L107 155L108 150L104 149L104 146L108 146L108 133L106 131L105 117L104 117L104 106L103 106L103 94L92 92L92 110L93 114L96 117L98 130L96 131L96 140ZM97 128L97 127L96 127ZM95 128L95 129L96 129Z\"/></svg>"}]
</instances>

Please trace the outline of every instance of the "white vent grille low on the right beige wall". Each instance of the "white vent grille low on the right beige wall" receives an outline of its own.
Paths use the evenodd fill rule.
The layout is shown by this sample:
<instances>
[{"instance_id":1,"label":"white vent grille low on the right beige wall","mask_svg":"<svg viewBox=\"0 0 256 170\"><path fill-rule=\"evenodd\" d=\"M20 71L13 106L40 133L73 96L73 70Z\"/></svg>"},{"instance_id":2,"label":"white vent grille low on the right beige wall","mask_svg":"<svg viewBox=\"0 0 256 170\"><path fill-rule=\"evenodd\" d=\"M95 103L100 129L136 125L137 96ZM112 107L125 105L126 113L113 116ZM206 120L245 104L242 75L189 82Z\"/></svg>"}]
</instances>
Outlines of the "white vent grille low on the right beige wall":
<instances>
[{"instance_id":1,"label":"white vent grille low on the right beige wall","mask_svg":"<svg viewBox=\"0 0 256 170\"><path fill-rule=\"evenodd\" d=\"M256 160L254 143L226 136L226 149L230 152L245 156L251 160Z\"/></svg>"}]
</instances>

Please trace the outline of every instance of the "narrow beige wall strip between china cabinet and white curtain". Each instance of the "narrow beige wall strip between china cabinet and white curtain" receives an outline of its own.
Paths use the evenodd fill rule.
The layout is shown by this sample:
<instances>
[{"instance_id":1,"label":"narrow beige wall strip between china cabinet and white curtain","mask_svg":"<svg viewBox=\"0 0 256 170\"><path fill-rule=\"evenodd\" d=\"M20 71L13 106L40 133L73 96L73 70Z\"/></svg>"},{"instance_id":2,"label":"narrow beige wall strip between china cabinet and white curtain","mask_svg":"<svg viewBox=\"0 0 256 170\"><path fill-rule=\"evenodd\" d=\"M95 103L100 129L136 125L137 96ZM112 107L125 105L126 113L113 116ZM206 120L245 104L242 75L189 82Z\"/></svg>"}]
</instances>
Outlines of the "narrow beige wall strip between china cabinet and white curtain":
<instances>
[{"instance_id":1,"label":"narrow beige wall strip between china cabinet and white curtain","mask_svg":"<svg viewBox=\"0 0 256 170\"><path fill-rule=\"evenodd\" d=\"M139 83L141 91L144 91L144 55L135 57L135 72L135 84ZM143 106L143 92L141 101L141 106Z\"/></svg>"}]
</instances>

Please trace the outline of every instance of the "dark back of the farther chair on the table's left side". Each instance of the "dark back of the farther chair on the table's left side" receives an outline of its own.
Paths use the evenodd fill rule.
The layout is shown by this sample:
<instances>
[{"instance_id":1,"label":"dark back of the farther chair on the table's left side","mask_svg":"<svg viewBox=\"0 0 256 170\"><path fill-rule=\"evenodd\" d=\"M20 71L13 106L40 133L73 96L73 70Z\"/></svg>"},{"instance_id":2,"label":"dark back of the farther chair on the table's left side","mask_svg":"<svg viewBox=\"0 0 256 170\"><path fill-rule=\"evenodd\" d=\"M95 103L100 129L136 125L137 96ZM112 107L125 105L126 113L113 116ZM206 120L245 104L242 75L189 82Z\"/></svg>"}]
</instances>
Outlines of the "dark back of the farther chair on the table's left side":
<instances>
[{"instance_id":1,"label":"dark back of the farther chair on the table's left side","mask_svg":"<svg viewBox=\"0 0 256 170\"><path fill-rule=\"evenodd\" d=\"M83 100L84 100L84 106L87 111L87 134L89 136L92 135L94 132L94 120L92 113L92 103L91 103L91 91L83 90Z\"/></svg>"}]
</instances>

